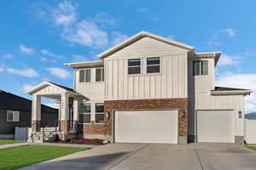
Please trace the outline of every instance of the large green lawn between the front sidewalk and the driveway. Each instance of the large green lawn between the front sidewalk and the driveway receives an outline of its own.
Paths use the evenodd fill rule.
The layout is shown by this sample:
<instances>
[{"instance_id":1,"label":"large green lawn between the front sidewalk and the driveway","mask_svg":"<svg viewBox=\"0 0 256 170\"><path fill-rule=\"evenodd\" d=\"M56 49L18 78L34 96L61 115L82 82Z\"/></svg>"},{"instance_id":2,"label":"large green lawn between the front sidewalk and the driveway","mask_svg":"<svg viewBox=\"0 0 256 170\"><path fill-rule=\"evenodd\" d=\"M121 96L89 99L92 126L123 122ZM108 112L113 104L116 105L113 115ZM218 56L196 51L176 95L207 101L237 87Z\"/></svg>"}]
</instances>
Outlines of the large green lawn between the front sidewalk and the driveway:
<instances>
[{"instance_id":1,"label":"large green lawn between the front sidewalk and the driveway","mask_svg":"<svg viewBox=\"0 0 256 170\"><path fill-rule=\"evenodd\" d=\"M89 148L62 147L46 145L26 145L0 150L0 170L26 167L38 162L48 161L60 156L73 154Z\"/></svg>"}]
</instances>

